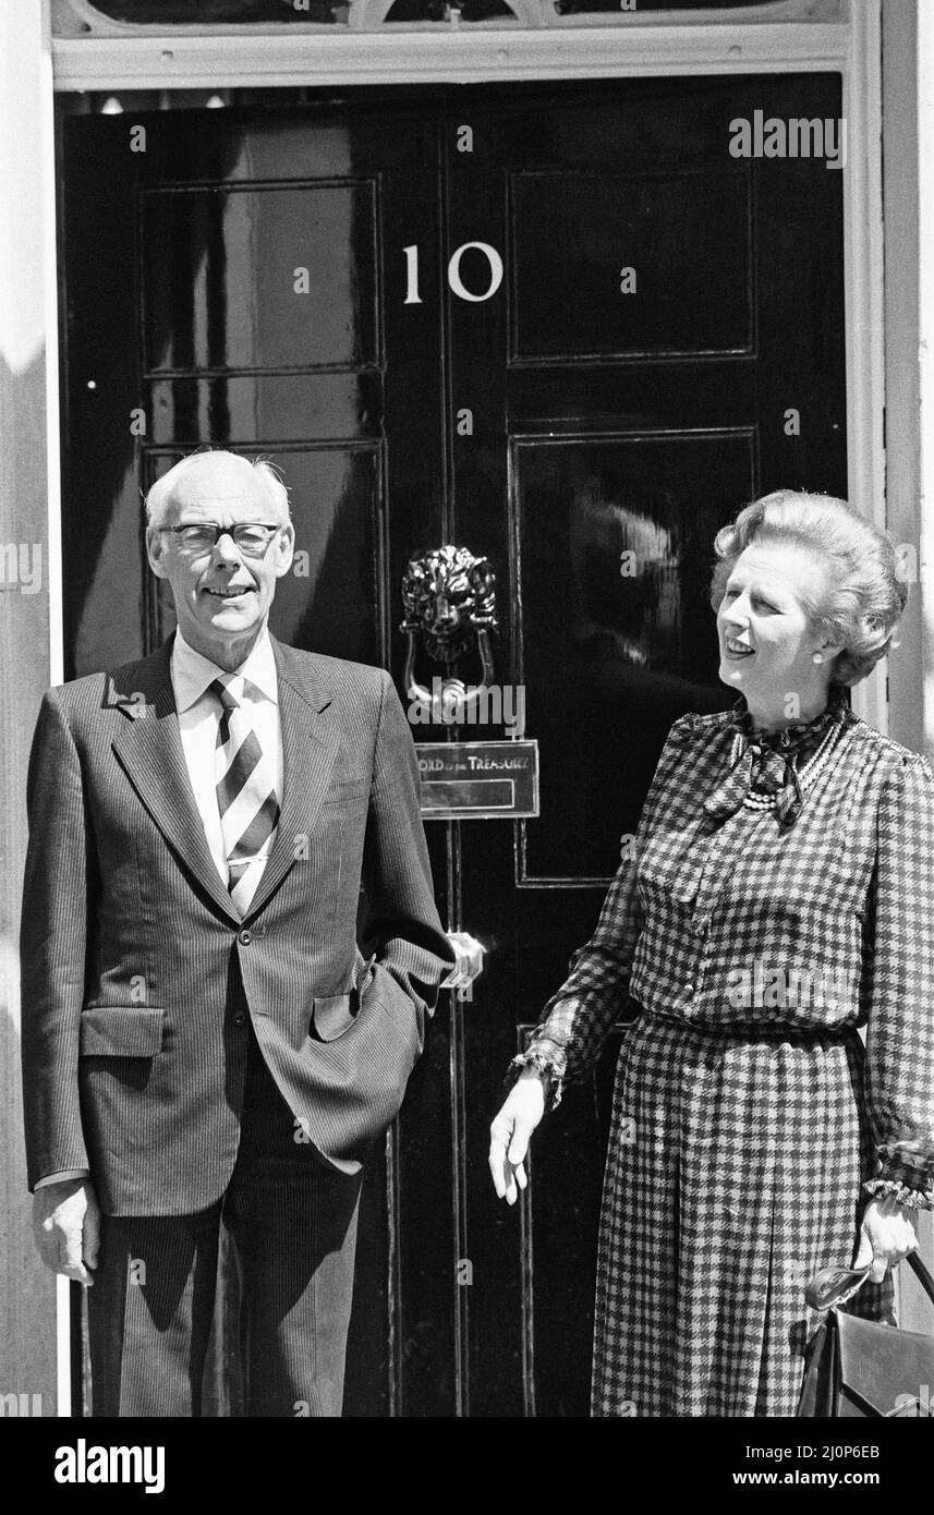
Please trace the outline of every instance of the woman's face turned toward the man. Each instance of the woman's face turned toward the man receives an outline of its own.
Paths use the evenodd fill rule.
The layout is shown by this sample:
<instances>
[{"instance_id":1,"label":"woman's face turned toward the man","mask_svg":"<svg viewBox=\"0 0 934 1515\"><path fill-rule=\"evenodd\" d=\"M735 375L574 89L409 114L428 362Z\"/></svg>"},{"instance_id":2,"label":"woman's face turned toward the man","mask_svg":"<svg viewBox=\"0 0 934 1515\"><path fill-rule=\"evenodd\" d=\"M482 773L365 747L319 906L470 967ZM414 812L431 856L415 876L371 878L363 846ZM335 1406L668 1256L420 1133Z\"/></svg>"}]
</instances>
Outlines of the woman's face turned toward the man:
<instances>
[{"instance_id":1,"label":"woman's face turned toward the man","mask_svg":"<svg viewBox=\"0 0 934 1515\"><path fill-rule=\"evenodd\" d=\"M820 604L827 565L790 542L751 542L737 558L716 617L721 642L719 677L760 704L801 698L827 680L825 661L837 645L825 645L802 604Z\"/></svg>"}]
</instances>

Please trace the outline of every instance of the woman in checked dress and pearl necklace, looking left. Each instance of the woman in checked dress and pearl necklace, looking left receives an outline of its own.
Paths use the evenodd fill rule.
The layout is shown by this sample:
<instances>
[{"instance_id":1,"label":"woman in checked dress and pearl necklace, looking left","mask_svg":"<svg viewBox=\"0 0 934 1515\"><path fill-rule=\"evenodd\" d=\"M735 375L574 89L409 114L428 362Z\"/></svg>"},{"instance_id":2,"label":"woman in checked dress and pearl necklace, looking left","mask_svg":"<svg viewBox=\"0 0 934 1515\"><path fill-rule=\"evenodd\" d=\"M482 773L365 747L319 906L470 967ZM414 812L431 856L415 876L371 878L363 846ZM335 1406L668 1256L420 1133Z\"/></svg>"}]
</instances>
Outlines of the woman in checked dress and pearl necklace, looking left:
<instances>
[{"instance_id":1,"label":"woman in checked dress and pearl necklace, looking left","mask_svg":"<svg viewBox=\"0 0 934 1515\"><path fill-rule=\"evenodd\" d=\"M497 1192L627 1029L604 1179L593 1415L793 1415L808 1279L934 1206L934 776L848 706L905 608L892 542L780 491L718 533L733 712L672 726L633 856L510 1068ZM634 1017L634 1018L633 1018ZM866 1048L857 1027L866 1027Z\"/></svg>"}]
</instances>

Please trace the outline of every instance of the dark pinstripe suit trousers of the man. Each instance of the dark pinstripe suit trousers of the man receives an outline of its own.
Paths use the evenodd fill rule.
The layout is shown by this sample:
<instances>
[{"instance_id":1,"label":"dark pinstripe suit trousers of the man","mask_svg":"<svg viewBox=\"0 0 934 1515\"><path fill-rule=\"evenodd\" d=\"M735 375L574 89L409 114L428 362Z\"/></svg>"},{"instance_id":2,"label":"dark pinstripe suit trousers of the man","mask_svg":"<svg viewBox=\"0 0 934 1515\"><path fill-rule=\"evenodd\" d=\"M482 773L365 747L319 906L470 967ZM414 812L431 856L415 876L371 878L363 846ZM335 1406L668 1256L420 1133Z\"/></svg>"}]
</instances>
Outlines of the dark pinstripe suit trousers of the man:
<instances>
[{"instance_id":1,"label":"dark pinstripe suit trousers of the man","mask_svg":"<svg viewBox=\"0 0 934 1515\"><path fill-rule=\"evenodd\" d=\"M336 1417L362 1174L304 1142L250 1029L244 1115L224 1195L195 1215L101 1217L88 1291L95 1417L200 1417L219 1227L241 1277L248 1417Z\"/></svg>"}]
</instances>

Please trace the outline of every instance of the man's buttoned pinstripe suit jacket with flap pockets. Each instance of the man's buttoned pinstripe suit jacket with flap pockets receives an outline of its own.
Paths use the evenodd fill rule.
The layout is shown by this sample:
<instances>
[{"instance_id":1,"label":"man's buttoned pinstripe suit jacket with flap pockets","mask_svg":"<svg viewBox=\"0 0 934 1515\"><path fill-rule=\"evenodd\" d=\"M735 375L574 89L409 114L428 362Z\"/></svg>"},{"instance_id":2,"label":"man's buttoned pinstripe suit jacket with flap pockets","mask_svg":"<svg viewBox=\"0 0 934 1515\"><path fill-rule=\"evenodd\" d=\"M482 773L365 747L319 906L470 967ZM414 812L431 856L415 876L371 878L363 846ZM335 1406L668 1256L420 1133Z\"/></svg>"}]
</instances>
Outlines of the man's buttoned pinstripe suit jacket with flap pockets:
<instances>
[{"instance_id":1,"label":"man's buttoned pinstripe suit jacket with flap pockets","mask_svg":"<svg viewBox=\"0 0 934 1515\"><path fill-rule=\"evenodd\" d=\"M297 1139L357 1171L453 962L389 676L272 639L282 814L241 918L191 792L170 648L50 689L29 768L29 1182L86 1167L111 1215L188 1214L224 1192L247 1012Z\"/></svg>"}]
</instances>

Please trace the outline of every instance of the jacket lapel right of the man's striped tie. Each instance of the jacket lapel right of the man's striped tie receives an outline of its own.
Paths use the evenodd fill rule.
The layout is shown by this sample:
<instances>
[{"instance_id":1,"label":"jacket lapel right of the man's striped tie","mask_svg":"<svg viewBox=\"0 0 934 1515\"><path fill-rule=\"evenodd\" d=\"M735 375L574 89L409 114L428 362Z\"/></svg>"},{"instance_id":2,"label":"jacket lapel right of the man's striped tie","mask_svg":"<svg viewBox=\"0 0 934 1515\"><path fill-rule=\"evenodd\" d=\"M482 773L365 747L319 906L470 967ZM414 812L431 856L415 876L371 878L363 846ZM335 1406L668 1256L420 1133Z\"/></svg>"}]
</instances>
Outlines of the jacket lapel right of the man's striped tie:
<instances>
[{"instance_id":1,"label":"jacket lapel right of the man's striped tie","mask_svg":"<svg viewBox=\"0 0 934 1515\"><path fill-rule=\"evenodd\" d=\"M279 677L283 794L272 851L247 917L262 909L295 864L298 838L310 836L341 747L327 709L332 697L316 674L313 654L271 641Z\"/></svg>"}]
</instances>

